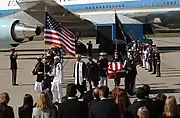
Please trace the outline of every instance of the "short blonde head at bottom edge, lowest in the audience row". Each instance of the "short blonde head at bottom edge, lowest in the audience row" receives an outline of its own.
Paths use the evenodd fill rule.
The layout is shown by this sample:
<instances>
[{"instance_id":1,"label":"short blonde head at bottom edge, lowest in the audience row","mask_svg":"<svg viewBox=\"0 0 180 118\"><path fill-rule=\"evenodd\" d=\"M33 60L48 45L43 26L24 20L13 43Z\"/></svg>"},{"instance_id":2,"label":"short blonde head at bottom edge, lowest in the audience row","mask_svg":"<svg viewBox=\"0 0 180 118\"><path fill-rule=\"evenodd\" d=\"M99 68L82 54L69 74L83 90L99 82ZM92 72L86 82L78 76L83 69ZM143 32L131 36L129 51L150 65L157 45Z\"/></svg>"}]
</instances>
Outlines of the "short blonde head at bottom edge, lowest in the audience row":
<instances>
[{"instance_id":1,"label":"short blonde head at bottom edge, lowest in the audience row","mask_svg":"<svg viewBox=\"0 0 180 118\"><path fill-rule=\"evenodd\" d=\"M149 110L145 106L140 107L137 111L137 115L139 118L149 118Z\"/></svg>"}]
</instances>

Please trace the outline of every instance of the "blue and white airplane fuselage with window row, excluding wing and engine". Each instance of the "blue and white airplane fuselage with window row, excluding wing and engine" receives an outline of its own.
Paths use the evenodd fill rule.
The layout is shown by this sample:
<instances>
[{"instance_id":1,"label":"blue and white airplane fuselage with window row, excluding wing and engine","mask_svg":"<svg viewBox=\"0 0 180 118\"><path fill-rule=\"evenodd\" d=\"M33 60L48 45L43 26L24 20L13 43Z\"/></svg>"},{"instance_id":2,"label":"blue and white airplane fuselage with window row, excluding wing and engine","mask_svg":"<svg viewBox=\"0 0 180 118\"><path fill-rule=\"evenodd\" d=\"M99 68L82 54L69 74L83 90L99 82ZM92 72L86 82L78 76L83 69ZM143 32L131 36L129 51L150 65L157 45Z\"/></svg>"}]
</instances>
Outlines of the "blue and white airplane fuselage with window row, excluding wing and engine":
<instances>
[{"instance_id":1,"label":"blue and white airplane fuselage with window row, excluding wing and engine","mask_svg":"<svg viewBox=\"0 0 180 118\"><path fill-rule=\"evenodd\" d=\"M18 0L18 2L23 0ZM78 15L117 14L143 23L159 18L162 24L180 24L180 0L55 0ZM16 0L0 4L0 17L20 11Z\"/></svg>"}]
</instances>

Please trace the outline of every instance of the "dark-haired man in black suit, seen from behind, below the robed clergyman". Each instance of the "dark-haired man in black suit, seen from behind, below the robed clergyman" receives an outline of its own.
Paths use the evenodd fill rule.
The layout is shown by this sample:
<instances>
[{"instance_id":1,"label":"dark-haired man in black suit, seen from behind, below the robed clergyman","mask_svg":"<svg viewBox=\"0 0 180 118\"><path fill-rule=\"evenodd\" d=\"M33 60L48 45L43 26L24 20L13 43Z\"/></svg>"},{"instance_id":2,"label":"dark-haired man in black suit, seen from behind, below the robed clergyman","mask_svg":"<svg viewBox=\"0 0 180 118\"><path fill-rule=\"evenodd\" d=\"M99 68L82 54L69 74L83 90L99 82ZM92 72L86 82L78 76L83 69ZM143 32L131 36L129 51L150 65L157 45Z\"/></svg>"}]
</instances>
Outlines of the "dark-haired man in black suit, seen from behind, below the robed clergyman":
<instances>
[{"instance_id":1,"label":"dark-haired man in black suit, seen from behind, below the robed clergyman","mask_svg":"<svg viewBox=\"0 0 180 118\"><path fill-rule=\"evenodd\" d=\"M60 118L88 118L88 105L78 101L75 84L68 84L66 88L67 100L59 105Z\"/></svg>"}]
</instances>

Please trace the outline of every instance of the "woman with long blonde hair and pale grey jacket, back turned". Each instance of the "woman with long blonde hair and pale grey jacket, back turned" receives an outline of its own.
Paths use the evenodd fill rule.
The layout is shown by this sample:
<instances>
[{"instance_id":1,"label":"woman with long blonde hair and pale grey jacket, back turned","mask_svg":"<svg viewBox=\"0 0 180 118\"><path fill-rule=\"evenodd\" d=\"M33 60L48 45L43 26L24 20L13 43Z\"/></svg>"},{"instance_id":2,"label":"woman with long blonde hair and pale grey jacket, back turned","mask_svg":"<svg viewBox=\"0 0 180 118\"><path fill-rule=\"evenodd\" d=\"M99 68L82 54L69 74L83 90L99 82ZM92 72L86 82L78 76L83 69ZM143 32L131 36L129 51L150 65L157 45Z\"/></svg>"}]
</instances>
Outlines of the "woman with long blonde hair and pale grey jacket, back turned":
<instances>
[{"instance_id":1,"label":"woman with long blonde hair and pale grey jacket, back turned","mask_svg":"<svg viewBox=\"0 0 180 118\"><path fill-rule=\"evenodd\" d=\"M49 97L45 92L41 92L38 95L36 107L33 108L32 118L51 118L51 107Z\"/></svg>"}]
</instances>

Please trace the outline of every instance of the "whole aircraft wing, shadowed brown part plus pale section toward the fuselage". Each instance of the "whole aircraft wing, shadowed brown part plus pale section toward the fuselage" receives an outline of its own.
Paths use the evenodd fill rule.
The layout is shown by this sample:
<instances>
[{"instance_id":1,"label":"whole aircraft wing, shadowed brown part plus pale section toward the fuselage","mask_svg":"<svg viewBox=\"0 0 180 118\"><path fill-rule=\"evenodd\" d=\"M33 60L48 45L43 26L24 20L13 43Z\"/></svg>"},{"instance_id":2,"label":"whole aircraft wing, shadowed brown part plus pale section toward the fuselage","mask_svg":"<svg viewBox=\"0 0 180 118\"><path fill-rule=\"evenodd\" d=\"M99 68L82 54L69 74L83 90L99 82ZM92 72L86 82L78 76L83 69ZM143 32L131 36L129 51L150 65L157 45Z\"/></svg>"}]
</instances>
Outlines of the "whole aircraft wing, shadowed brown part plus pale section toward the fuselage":
<instances>
[{"instance_id":1,"label":"whole aircraft wing, shadowed brown part plus pale section toward the fuselage","mask_svg":"<svg viewBox=\"0 0 180 118\"><path fill-rule=\"evenodd\" d=\"M76 14L59 5L54 0L23 0L18 2L21 9L42 24L45 22L45 9L57 21L72 31L94 30L96 24L114 24L115 14ZM143 24L135 19L118 14L122 24Z\"/></svg>"}]
</instances>

